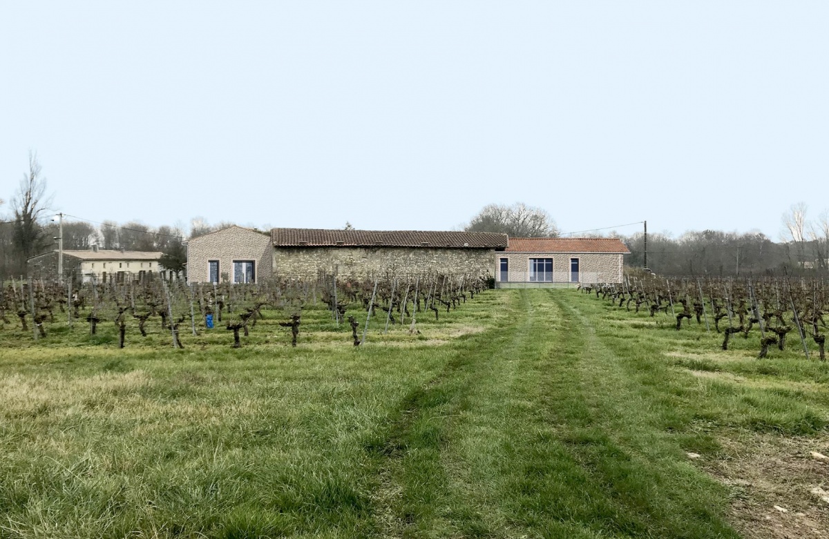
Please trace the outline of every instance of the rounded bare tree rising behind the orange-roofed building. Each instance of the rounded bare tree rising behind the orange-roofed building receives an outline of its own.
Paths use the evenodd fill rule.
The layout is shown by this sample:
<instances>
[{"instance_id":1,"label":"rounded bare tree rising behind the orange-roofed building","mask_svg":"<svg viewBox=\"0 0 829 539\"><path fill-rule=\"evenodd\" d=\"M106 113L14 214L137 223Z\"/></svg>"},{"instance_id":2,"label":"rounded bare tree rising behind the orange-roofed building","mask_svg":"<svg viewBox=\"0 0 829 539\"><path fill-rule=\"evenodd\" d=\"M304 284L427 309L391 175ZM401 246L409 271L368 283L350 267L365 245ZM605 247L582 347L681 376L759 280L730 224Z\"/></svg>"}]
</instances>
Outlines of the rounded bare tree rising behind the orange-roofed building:
<instances>
[{"instance_id":1,"label":"rounded bare tree rising behind the orange-roofed building","mask_svg":"<svg viewBox=\"0 0 829 539\"><path fill-rule=\"evenodd\" d=\"M545 238L559 235L555 221L545 209L528 206L522 202L511 206L484 206L463 229L467 232L506 233L511 238Z\"/></svg>"}]
</instances>

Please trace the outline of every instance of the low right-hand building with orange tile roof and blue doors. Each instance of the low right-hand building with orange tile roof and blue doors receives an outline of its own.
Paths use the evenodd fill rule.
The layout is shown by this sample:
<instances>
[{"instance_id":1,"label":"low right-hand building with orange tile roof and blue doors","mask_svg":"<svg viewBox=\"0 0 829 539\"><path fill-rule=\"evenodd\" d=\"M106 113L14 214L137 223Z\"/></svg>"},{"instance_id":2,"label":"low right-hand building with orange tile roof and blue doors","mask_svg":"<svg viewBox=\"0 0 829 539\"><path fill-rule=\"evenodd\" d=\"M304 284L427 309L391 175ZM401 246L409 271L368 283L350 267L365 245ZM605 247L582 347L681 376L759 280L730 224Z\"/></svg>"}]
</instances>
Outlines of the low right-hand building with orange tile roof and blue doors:
<instances>
[{"instance_id":1,"label":"low right-hand building with orange tile roof and blue doors","mask_svg":"<svg viewBox=\"0 0 829 539\"><path fill-rule=\"evenodd\" d=\"M622 282L629 253L617 238L510 238L496 255L496 286Z\"/></svg>"}]
</instances>

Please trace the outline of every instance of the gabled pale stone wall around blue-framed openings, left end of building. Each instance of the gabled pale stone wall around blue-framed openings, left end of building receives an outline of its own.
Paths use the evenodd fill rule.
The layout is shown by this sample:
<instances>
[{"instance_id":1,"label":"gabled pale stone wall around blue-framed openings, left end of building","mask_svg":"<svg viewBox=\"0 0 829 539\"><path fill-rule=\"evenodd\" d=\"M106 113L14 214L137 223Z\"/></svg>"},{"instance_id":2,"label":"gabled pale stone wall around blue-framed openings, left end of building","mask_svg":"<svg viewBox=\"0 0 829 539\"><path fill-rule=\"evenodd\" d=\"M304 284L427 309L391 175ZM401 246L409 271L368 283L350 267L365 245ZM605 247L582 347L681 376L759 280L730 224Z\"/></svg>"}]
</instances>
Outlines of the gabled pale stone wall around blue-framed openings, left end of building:
<instances>
[{"instance_id":1,"label":"gabled pale stone wall around blue-framed openings, left end of building","mask_svg":"<svg viewBox=\"0 0 829 539\"><path fill-rule=\"evenodd\" d=\"M222 274L233 282L233 262L253 260L255 281L273 275L273 255L270 235L256 230L230 227L187 242L187 281L209 282L211 260L219 261L219 281Z\"/></svg>"}]
</instances>

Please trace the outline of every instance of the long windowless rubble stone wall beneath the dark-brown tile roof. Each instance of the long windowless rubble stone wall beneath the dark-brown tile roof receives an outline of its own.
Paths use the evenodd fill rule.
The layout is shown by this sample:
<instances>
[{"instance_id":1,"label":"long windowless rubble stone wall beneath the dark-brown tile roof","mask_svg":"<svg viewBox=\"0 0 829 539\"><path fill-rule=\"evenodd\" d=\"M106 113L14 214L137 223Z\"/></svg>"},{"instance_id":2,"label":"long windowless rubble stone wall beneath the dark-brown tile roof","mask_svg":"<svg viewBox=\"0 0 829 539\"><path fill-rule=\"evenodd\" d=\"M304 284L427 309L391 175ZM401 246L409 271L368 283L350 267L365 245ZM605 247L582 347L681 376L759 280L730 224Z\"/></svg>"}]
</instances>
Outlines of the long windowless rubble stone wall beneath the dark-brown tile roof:
<instances>
[{"instance_id":1,"label":"long windowless rubble stone wall beneath the dark-brown tile roof","mask_svg":"<svg viewBox=\"0 0 829 539\"><path fill-rule=\"evenodd\" d=\"M274 274L314 278L337 267L342 277L366 277L372 273L425 272L492 275L494 249L399 248L399 247L277 247Z\"/></svg>"}]
</instances>

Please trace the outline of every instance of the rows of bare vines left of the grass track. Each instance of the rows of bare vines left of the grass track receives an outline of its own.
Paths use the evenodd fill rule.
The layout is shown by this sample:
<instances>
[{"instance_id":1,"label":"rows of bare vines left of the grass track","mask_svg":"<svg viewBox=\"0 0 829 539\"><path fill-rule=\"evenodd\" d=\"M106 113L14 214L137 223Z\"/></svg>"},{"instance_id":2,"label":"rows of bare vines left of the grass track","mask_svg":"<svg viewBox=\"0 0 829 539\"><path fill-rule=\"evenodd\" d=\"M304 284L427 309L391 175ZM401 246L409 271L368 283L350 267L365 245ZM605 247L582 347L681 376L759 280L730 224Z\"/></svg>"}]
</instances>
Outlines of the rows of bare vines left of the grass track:
<instances>
[{"instance_id":1,"label":"rows of bare vines left of the grass track","mask_svg":"<svg viewBox=\"0 0 829 539\"><path fill-rule=\"evenodd\" d=\"M184 349L194 344L240 348L249 338L279 342L275 334L297 346L301 333L335 331L347 334L343 342L359 346L370 330L388 333L395 325L416 335L418 319L451 315L486 287L480 277L437 273L257 284L155 279L89 282L75 289L71 282L12 279L0 291L0 334L41 344L72 335L119 348L166 344ZM251 337L257 332L259 339Z\"/></svg>"}]
</instances>

